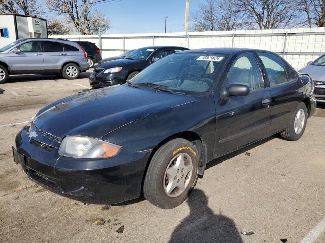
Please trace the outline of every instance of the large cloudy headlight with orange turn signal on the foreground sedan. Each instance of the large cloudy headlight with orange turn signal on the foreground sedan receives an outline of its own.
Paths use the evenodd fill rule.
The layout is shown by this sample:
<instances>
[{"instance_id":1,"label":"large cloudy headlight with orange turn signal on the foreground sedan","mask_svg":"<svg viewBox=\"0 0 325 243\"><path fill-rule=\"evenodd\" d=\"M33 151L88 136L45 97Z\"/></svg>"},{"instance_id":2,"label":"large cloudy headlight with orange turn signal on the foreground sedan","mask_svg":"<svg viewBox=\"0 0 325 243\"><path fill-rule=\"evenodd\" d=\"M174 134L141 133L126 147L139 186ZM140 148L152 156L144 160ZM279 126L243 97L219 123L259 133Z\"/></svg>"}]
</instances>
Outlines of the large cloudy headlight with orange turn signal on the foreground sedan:
<instances>
[{"instance_id":1,"label":"large cloudy headlight with orange turn signal on the foreground sedan","mask_svg":"<svg viewBox=\"0 0 325 243\"><path fill-rule=\"evenodd\" d=\"M72 158L109 158L114 157L121 147L102 140L88 137L65 137L59 148L59 154Z\"/></svg>"}]
</instances>

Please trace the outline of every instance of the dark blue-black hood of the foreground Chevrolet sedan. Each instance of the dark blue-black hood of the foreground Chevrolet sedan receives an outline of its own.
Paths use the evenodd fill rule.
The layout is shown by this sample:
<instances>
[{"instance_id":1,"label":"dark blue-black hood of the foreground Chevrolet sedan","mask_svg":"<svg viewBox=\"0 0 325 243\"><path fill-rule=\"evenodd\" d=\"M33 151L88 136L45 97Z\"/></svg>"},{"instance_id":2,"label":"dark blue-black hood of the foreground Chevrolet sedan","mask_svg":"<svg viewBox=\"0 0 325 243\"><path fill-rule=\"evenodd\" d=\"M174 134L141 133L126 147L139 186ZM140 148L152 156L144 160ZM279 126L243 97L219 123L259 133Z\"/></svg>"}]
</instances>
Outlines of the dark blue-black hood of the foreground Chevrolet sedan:
<instances>
[{"instance_id":1,"label":"dark blue-black hood of the foreground Chevrolet sedan","mask_svg":"<svg viewBox=\"0 0 325 243\"><path fill-rule=\"evenodd\" d=\"M152 88L119 85L57 101L40 110L34 124L58 138L67 135L101 138L137 119L196 99Z\"/></svg>"}]
</instances>

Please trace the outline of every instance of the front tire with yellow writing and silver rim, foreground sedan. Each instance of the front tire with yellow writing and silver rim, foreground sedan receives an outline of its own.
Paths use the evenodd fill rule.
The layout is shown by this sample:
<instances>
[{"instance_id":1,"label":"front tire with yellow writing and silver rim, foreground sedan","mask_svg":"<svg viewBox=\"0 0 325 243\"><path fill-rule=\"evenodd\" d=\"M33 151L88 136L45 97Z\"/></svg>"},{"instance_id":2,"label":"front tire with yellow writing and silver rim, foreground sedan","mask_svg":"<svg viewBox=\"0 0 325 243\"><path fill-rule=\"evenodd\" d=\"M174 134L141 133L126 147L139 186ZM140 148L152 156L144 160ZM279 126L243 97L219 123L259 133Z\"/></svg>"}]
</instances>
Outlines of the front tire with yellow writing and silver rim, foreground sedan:
<instances>
[{"instance_id":1,"label":"front tire with yellow writing and silver rim, foreground sedan","mask_svg":"<svg viewBox=\"0 0 325 243\"><path fill-rule=\"evenodd\" d=\"M180 161L183 164L178 166ZM197 183L198 172L199 155L194 144L183 138L173 139L153 155L143 184L144 197L159 208L175 208L189 196Z\"/></svg>"}]
</instances>

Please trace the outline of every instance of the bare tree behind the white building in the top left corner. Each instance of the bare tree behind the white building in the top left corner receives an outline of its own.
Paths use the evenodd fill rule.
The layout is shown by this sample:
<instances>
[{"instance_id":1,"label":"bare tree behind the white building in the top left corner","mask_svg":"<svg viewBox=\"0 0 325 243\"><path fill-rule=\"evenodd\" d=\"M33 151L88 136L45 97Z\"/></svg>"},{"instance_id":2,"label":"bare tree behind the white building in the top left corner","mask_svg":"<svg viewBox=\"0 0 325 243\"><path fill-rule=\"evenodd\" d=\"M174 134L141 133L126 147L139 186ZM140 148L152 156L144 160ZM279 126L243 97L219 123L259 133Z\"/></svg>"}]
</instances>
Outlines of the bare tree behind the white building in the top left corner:
<instances>
[{"instance_id":1,"label":"bare tree behind the white building in the top left corner","mask_svg":"<svg viewBox=\"0 0 325 243\"><path fill-rule=\"evenodd\" d=\"M0 0L0 13L30 15L40 8L37 0Z\"/></svg>"}]
</instances>

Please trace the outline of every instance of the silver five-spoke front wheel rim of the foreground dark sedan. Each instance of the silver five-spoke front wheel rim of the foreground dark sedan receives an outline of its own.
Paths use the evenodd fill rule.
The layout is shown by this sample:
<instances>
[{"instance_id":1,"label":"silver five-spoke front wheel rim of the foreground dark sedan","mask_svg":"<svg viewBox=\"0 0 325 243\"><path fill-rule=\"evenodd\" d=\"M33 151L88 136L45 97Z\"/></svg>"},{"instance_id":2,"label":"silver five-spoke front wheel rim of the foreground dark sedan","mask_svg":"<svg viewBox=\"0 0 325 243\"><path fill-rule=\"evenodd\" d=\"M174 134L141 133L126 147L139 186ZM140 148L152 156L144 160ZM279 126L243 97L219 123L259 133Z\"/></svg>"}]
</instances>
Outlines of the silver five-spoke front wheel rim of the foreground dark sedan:
<instances>
[{"instance_id":1,"label":"silver five-spoke front wheel rim of the foreground dark sedan","mask_svg":"<svg viewBox=\"0 0 325 243\"><path fill-rule=\"evenodd\" d=\"M187 188L193 174L193 161L186 153L177 154L167 166L164 176L164 190L169 197L181 195Z\"/></svg>"}]
</instances>

